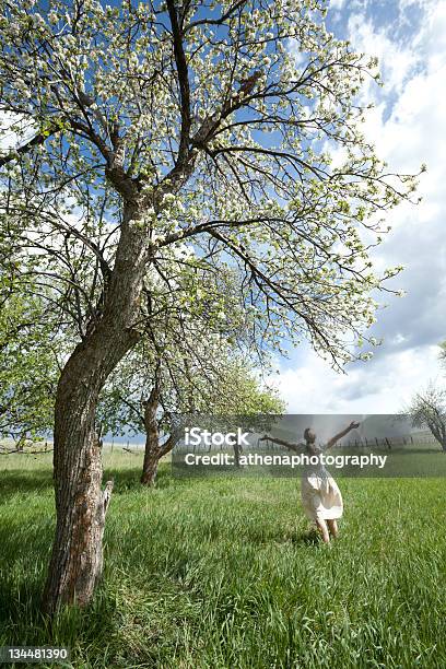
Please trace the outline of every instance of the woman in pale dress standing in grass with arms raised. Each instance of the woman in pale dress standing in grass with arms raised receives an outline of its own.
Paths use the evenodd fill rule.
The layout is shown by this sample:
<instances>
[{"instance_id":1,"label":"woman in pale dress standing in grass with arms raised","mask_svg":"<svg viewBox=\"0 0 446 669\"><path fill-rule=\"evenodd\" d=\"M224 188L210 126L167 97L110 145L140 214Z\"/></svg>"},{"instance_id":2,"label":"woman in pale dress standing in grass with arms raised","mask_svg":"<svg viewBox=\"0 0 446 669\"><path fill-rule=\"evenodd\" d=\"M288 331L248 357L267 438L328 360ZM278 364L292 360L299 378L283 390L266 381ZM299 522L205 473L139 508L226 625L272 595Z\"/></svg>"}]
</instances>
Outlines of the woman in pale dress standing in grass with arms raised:
<instances>
[{"instance_id":1,"label":"woman in pale dress standing in grass with arms raised","mask_svg":"<svg viewBox=\"0 0 446 669\"><path fill-rule=\"evenodd\" d=\"M320 456L327 448L331 448L340 438L360 423L350 423L345 430L329 439L326 446L316 445L316 434L307 427L304 432L306 453L309 456ZM305 466L302 476L301 497L306 515L313 520L322 536L325 543L330 542L330 535L338 536L338 518L342 516L343 503L341 491L337 482L326 470L320 457L312 458L314 461Z\"/></svg>"}]
</instances>

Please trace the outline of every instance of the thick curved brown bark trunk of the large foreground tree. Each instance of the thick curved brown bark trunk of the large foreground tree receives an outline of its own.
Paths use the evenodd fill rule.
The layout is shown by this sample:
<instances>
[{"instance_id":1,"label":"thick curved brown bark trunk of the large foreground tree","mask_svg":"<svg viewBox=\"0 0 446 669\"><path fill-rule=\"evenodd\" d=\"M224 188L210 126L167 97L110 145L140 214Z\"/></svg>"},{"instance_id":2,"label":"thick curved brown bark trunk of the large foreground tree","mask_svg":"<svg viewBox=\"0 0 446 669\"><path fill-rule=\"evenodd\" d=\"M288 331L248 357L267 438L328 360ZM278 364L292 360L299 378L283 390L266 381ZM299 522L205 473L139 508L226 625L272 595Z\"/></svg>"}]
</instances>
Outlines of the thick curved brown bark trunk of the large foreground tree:
<instances>
[{"instance_id":1,"label":"thick curved brown bark trunk of the large foreground tree","mask_svg":"<svg viewBox=\"0 0 446 669\"><path fill-rule=\"evenodd\" d=\"M139 315L148 261L144 233L125 210L115 267L103 315L78 344L61 374L56 396L54 478L56 536L44 591L44 610L90 602L103 565L105 515L113 482L102 490L101 442L95 431L98 396L107 376L139 340Z\"/></svg>"}]
</instances>

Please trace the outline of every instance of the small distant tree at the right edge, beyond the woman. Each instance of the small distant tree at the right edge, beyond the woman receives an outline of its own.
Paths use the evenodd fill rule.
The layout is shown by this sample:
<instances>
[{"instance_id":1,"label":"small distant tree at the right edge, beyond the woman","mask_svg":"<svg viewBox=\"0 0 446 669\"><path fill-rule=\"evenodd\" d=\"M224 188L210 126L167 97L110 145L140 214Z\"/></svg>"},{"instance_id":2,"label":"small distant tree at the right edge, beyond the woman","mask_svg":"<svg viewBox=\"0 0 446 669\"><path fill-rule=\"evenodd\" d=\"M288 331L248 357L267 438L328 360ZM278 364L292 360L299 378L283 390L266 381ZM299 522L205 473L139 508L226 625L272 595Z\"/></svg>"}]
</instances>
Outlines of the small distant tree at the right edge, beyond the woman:
<instances>
[{"instance_id":1,"label":"small distant tree at the right edge, beyond the woman","mask_svg":"<svg viewBox=\"0 0 446 669\"><path fill-rule=\"evenodd\" d=\"M414 427L429 427L442 450L446 453L446 390L432 383L412 398L404 414L412 420Z\"/></svg>"}]
</instances>

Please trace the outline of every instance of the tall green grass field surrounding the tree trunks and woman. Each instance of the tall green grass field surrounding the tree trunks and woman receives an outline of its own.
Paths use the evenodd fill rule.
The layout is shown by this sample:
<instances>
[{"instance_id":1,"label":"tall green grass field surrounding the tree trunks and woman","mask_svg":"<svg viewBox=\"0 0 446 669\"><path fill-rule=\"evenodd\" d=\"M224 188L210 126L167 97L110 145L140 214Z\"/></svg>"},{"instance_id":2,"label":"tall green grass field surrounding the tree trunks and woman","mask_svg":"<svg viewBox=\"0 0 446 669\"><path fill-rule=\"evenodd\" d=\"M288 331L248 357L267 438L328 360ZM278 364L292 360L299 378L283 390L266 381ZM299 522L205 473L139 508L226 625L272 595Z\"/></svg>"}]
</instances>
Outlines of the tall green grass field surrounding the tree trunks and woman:
<instances>
[{"instance_id":1,"label":"tall green grass field surrounding the tree trunks and woman","mask_svg":"<svg viewBox=\"0 0 446 669\"><path fill-rule=\"evenodd\" d=\"M444 479L342 480L341 537L309 531L295 479L115 478L104 579L86 611L38 612L50 456L0 467L0 645L66 645L72 667L446 667ZM42 665L40 665L42 666Z\"/></svg>"}]
</instances>

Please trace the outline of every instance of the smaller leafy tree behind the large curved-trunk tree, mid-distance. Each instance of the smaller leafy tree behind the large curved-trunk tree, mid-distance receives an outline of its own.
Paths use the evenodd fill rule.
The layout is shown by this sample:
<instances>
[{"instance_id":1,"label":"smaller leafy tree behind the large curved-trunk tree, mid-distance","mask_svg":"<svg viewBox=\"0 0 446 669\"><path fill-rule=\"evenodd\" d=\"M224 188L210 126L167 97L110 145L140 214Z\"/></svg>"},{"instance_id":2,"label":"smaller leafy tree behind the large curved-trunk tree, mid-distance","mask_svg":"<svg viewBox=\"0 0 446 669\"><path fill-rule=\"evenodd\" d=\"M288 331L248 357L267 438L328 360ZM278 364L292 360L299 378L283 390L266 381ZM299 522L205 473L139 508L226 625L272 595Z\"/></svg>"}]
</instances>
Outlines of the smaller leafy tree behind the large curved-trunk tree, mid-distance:
<instances>
[{"instance_id":1,"label":"smaller leafy tree behind the large curved-trunk tree, mid-distance","mask_svg":"<svg viewBox=\"0 0 446 669\"><path fill-rule=\"evenodd\" d=\"M160 459L181 436L178 414L246 416L284 409L277 392L260 385L250 361L234 354L223 338L208 341L193 328L188 338L172 340L171 331L169 339L162 356L140 342L113 373L99 404L107 432L145 433L144 485L154 483Z\"/></svg>"}]
</instances>

